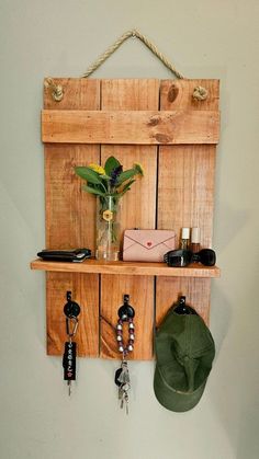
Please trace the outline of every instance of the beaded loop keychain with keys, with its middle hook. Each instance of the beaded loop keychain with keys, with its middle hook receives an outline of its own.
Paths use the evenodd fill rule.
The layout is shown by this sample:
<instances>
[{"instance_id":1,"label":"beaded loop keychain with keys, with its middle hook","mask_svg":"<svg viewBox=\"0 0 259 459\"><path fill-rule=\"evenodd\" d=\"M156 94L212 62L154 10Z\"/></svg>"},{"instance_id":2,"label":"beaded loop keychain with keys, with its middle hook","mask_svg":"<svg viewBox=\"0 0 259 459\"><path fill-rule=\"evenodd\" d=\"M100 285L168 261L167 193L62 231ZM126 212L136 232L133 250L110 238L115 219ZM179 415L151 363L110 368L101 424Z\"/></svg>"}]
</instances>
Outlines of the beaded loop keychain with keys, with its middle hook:
<instances>
[{"instance_id":1,"label":"beaded loop keychain with keys, with its middle hook","mask_svg":"<svg viewBox=\"0 0 259 459\"><path fill-rule=\"evenodd\" d=\"M124 295L124 303L119 309L119 320L116 324L116 341L120 353L122 353L122 364L121 367L115 371L115 385L119 387L119 400L121 401L121 409L124 404L126 406L126 414L128 414L128 391L131 389L131 379L127 367L126 356L134 349L135 342L135 326L133 323L133 318L135 315L134 308L128 305L130 296ZM127 323L128 329L128 340L125 344L123 341L123 324Z\"/></svg>"}]
</instances>

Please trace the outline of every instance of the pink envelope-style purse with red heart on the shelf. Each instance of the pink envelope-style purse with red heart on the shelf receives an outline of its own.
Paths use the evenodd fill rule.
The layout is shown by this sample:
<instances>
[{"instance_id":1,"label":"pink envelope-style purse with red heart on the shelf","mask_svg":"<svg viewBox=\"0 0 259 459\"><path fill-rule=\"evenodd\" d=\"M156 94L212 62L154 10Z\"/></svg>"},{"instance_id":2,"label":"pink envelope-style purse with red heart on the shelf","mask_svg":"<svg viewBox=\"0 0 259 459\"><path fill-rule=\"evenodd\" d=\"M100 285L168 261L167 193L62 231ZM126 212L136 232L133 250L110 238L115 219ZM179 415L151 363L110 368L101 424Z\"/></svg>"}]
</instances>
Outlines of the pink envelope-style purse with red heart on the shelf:
<instances>
[{"instance_id":1,"label":"pink envelope-style purse with red heart on the shelf","mask_svg":"<svg viewBox=\"0 0 259 459\"><path fill-rule=\"evenodd\" d=\"M176 249L172 230L125 230L123 260L126 262L164 262L164 255Z\"/></svg>"}]
</instances>

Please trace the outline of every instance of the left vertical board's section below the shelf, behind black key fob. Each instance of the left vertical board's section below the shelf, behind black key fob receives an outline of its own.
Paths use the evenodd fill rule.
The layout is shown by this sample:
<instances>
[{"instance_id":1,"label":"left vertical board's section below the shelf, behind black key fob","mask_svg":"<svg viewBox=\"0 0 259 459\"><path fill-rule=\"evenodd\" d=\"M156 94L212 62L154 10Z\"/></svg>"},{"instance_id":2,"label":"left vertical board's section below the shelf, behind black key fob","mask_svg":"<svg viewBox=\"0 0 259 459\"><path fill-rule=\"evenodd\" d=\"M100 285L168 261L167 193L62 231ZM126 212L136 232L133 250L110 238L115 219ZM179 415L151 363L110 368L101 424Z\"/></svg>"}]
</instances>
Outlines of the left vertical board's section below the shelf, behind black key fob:
<instances>
[{"instance_id":1,"label":"left vertical board's section below the shelf, behind black key fob","mask_svg":"<svg viewBox=\"0 0 259 459\"><path fill-rule=\"evenodd\" d=\"M64 306L66 292L81 308L75 341L78 355L97 357L99 354L99 278L94 274L47 273L47 354L63 355L66 335Z\"/></svg>"}]
</instances>

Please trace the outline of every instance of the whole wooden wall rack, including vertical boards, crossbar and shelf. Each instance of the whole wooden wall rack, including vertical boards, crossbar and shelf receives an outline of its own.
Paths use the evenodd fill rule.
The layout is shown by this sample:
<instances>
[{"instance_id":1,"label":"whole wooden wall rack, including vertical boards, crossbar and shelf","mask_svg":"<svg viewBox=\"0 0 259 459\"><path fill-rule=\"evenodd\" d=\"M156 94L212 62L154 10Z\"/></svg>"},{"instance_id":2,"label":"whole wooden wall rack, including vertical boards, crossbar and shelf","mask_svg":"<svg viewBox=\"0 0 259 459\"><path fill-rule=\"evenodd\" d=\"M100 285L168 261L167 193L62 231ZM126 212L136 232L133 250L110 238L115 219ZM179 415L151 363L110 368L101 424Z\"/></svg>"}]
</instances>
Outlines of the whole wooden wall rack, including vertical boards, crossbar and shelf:
<instances>
[{"instance_id":1,"label":"whole wooden wall rack, including vertical boards, crossbar and shelf","mask_svg":"<svg viewBox=\"0 0 259 459\"><path fill-rule=\"evenodd\" d=\"M95 197L82 192L74 168L104 164L110 156L124 169L139 162L145 171L122 199L122 231L173 229L179 242L182 227L198 226L202 246L212 246L218 80L54 81L64 99L54 102L44 90L46 248L88 246L94 253ZM205 101L192 96L199 85L209 92ZM121 357L114 330L124 294L136 312L130 358L150 359L155 322L160 324L180 295L209 323L211 278L219 276L216 266L200 264L36 260L31 267L47 272L47 353L63 354L69 290L81 306L78 354L103 358Z\"/></svg>"}]
</instances>

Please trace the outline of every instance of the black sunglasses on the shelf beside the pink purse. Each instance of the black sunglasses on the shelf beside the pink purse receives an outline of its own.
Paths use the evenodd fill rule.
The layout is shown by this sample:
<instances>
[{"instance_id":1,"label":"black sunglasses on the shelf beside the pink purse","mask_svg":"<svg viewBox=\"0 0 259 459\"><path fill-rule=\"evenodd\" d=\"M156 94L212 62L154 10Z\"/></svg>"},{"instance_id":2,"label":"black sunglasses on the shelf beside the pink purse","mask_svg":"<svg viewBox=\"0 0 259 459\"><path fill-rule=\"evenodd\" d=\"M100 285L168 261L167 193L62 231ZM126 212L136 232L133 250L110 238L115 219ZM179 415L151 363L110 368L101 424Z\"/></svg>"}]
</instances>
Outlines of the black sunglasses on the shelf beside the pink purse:
<instances>
[{"instance_id":1,"label":"black sunglasses on the shelf beside the pink purse","mask_svg":"<svg viewBox=\"0 0 259 459\"><path fill-rule=\"evenodd\" d=\"M214 266L216 254L212 249L202 249L198 253L191 250L170 250L164 255L164 261L168 266L184 267L190 263L202 263L204 266Z\"/></svg>"}]
</instances>

